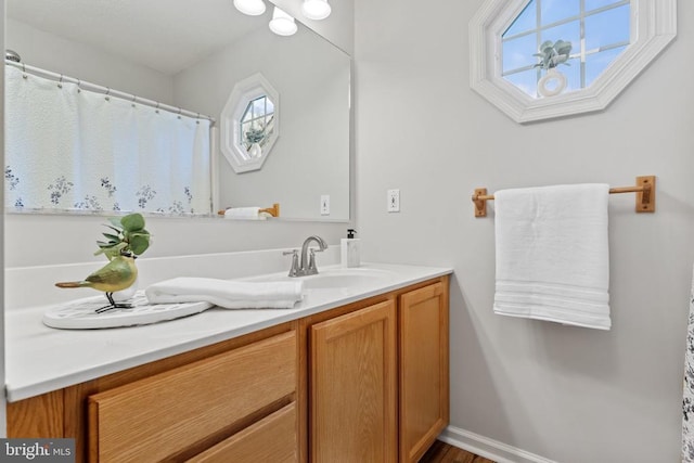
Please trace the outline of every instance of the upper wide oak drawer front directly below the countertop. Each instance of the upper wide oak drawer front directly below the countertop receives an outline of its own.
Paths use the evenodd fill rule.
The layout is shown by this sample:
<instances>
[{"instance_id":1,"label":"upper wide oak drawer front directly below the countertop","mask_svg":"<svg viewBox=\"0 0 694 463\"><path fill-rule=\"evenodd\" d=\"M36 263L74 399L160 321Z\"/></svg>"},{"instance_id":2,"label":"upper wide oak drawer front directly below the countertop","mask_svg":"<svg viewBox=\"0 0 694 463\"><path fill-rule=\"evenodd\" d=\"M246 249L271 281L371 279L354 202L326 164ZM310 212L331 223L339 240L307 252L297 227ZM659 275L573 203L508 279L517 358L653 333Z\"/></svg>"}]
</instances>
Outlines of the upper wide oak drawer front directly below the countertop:
<instances>
[{"instance_id":1,"label":"upper wide oak drawer front directly below the countertop","mask_svg":"<svg viewBox=\"0 0 694 463\"><path fill-rule=\"evenodd\" d=\"M296 390L292 331L89 397L90 461L176 455Z\"/></svg>"}]
</instances>

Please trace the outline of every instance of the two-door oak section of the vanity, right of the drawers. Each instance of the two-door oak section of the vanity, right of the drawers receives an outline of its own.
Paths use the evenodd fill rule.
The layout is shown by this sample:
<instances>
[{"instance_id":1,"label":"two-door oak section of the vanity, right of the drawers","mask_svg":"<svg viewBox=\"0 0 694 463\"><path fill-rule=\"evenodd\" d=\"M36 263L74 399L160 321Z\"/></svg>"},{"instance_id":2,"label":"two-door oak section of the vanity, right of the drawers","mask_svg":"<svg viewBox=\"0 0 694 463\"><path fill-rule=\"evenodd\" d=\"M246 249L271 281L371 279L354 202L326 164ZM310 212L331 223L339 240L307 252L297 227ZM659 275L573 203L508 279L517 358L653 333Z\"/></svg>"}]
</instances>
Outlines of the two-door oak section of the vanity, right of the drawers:
<instances>
[{"instance_id":1,"label":"two-door oak section of the vanity, right of the drawers","mask_svg":"<svg viewBox=\"0 0 694 463\"><path fill-rule=\"evenodd\" d=\"M445 276L301 320L311 461L416 462L444 430L448 285Z\"/></svg>"}]
</instances>

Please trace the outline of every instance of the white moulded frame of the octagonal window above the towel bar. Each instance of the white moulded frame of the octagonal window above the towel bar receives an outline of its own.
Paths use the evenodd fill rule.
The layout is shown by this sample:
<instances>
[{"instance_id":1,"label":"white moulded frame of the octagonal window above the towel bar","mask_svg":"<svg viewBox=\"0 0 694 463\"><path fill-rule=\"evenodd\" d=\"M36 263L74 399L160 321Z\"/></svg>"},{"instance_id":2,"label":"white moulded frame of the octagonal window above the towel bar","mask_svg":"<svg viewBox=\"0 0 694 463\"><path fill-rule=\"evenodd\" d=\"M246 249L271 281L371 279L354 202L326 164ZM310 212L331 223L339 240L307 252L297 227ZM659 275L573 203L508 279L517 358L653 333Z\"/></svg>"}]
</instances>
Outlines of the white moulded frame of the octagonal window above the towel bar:
<instances>
[{"instance_id":1,"label":"white moulded frame of the octagonal window above the towel bar","mask_svg":"<svg viewBox=\"0 0 694 463\"><path fill-rule=\"evenodd\" d=\"M677 0L631 0L631 43L587 88L534 99L502 77L501 36L530 0L487 0L470 22L470 85L516 123L603 111L677 36Z\"/></svg>"}]
</instances>

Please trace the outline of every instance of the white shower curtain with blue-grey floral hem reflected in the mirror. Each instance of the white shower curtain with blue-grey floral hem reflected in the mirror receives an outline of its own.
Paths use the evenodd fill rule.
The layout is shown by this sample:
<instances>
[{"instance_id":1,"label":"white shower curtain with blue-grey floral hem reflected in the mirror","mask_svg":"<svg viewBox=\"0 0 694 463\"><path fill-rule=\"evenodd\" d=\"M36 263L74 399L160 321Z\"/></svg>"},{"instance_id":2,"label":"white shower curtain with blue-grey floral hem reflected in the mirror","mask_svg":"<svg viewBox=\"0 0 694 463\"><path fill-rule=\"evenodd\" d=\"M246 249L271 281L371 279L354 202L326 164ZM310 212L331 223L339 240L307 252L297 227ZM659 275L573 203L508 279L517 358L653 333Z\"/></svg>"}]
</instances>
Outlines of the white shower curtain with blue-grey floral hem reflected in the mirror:
<instances>
[{"instance_id":1,"label":"white shower curtain with blue-grey floral hem reflected in the mirror","mask_svg":"<svg viewBox=\"0 0 694 463\"><path fill-rule=\"evenodd\" d=\"M5 206L209 214L209 121L5 66Z\"/></svg>"}]
</instances>

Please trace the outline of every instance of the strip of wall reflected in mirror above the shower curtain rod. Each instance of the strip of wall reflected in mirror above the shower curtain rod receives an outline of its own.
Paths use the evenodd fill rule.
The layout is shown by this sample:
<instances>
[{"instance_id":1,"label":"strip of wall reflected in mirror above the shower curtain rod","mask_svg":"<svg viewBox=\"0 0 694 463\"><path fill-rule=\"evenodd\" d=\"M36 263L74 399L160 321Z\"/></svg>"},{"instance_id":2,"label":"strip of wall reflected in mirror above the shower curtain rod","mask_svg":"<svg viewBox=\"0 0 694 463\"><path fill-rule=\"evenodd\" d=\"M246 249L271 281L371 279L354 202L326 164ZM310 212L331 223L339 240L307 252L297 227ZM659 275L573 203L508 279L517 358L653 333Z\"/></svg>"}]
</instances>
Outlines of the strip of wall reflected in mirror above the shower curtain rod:
<instances>
[{"instance_id":1,"label":"strip of wall reflected in mirror above the shower curtain rod","mask_svg":"<svg viewBox=\"0 0 694 463\"><path fill-rule=\"evenodd\" d=\"M170 76L21 21L8 20L7 31L8 48L20 53L27 65L174 104ZM189 110L198 112L194 107Z\"/></svg>"}]
</instances>

